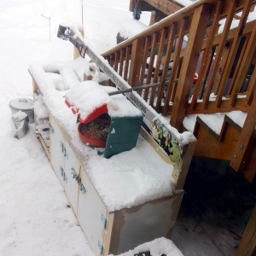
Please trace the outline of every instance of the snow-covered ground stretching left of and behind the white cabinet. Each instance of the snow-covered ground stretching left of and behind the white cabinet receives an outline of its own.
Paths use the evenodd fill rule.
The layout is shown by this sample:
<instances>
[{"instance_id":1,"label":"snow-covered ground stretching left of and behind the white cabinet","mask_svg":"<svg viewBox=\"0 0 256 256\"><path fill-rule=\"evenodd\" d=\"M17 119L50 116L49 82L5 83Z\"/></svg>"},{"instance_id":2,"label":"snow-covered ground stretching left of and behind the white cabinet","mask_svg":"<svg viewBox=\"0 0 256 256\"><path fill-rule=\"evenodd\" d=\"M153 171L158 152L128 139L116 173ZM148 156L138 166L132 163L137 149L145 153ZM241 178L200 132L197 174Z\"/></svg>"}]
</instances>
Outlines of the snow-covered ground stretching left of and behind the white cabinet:
<instances>
[{"instance_id":1,"label":"snow-covered ground stretching left of and behind the white cabinet","mask_svg":"<svg viewBox=\"0 0 256 256\"><path fill-rule=\"evenodd\" d=\"M13 137L9 108L16 97L32 98L30 63L73 59L72 45L56 38L56 32L60 22L81 23L81 3L0 1L1 256L94 255L33 129L20 140ZM131 19L129 1L83 3L86 38L96 50L109 49L115 44L116 24Z\"/></svg>"}]
</instances>

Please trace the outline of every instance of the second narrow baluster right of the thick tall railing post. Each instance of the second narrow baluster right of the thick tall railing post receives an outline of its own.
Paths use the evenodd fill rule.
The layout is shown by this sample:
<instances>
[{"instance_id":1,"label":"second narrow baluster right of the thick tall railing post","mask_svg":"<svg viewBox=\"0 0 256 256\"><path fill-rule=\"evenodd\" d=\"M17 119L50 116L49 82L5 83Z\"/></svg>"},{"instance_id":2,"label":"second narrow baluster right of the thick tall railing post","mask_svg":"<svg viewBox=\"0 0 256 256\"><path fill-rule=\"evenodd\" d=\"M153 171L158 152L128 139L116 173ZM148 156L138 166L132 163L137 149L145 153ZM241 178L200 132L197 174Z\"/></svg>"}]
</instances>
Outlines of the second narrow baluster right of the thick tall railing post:
<instances>
[{"instance_id":1,"label":"second narrow baluster right of the thick tall railing post","mask_svg":"<svg viewBox=\"0 0 256 256\"><path fill-rule=\"evenodd\" d=\"M228 10L227 18L226 18L225 25L224 25L224 32L221 34L221 38L219 40L217 53L215 55L215 60L213 62L213 66L212 66L212 72L211 72L211 75L209 78L209 82L207 84L207 90L204 94L203 105L204 105L205 109L207 109L208 102L209 102L209 96L212 92L212 87L213 87L214 81L215 81L217 73L218 73L219 62L222 59L224 47L225 47L225 44L226 44L226 41L228 38L228 34L229 34L229 30L230 30L230 25L232 23L233 16L236 11L236 3L237 3L237 0L230 1L230 7Z\"/></svg>"}]
</instances>

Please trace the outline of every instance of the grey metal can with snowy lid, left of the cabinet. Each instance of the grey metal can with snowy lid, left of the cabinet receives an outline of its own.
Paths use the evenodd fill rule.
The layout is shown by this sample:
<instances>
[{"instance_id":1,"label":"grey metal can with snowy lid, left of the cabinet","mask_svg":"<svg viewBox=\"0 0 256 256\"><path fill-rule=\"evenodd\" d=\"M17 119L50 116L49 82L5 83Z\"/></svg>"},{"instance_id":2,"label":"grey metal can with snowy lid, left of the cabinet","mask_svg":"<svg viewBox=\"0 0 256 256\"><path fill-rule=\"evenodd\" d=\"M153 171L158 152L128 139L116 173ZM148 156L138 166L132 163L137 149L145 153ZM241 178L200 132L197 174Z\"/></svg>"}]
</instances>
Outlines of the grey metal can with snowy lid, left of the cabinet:
<instances>
[{"instance_id":1,"label":"grey metal can with snowy lid, left of the cabinet","mask_svg":"<svg viewBox=\"0 0 256 256\"><path fill-rule=\"evenodd\" d=\"M34 123L34 110L33 110L33 100L28 98L16 98L9 102L9 108L12 114L18 112L19 110L25 112L28 116L28 122L30 124Z\"/></svg>"}]
</instances>

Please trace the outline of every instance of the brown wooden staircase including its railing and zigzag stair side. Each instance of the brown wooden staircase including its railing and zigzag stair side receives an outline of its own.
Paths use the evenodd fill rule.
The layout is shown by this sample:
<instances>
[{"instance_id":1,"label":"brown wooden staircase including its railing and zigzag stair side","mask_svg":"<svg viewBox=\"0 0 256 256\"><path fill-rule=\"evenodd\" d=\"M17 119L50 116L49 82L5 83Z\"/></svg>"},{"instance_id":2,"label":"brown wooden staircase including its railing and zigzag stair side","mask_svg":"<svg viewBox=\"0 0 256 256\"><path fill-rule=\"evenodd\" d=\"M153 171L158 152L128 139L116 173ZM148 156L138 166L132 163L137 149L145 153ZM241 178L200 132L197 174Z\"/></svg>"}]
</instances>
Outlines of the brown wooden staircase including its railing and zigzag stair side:
<instances>
[{"instance_id":1,"label":"brown wooden staircase including its railing and zigzag stair side","mask_svg":"<svg viewBox=\"0 0 256 256\"><path fill-rule=\"evenodd\" d=\"M256 173L255 3L197 1L103 54L131 87L158 84L138 94L178 131L188 129L186 119L196 119L189 128L197 137L195 155L230 160L251 183ZM239 122L235 113L241 113Z\"/></svg>"}]
</instances>

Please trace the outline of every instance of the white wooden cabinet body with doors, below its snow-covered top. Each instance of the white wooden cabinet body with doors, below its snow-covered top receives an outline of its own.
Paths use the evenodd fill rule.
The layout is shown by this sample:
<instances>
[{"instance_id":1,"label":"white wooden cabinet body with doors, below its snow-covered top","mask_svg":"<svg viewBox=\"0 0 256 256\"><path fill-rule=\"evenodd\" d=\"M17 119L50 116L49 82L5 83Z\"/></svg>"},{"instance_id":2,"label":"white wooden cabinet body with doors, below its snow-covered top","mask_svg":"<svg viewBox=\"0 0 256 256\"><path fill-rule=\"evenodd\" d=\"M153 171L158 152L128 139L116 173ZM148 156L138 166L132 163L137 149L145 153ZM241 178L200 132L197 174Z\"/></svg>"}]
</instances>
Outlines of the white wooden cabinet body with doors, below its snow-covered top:
<instances>
[{"instance_id":1,"label":"white wooden cabinet body with doors, below its snow-covered top","mask_svg":"<svg viewBox=\"0 0 256 256\"><path fill-rule=\"evenodd\" d=\"M65 128L49 114L49 160L81 229L96 255L119 254L157 237L171 238L183 190L166 198L110 212L80 158L67 139Z\"/></svg>"}]
</instances>

